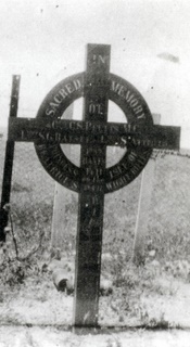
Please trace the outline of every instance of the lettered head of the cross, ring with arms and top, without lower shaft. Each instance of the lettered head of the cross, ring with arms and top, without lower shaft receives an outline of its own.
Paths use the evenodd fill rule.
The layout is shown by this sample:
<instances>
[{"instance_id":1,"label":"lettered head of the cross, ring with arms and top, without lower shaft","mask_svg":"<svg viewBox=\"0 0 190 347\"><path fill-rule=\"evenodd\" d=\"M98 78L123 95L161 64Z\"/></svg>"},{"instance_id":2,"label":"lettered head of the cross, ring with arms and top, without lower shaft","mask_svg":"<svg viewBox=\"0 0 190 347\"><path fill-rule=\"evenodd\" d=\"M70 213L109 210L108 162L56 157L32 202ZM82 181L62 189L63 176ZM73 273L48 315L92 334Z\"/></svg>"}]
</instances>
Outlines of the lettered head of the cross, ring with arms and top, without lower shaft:
<instances>
[{"instance_id":1,"label":"lettered head of the cross, ring with arms and top, without lower shaft","mask_svg":"<svg viewBox=\"0 0 190 347\"><path fill-rule=\"evenodd\" d=\"M34 141L49 175L76 192L81 185L85 191L103 194L116 191L142 171L153 149L179 146L179 128L153 125L139 91L110 73L110 52L104 52L105 48L89 46L87 70L59 82L43 100L36 118L10 118L9 139ZM79 98L84 98L83 120L64 119L66 108ZM109 100L124 112L126 124L107 121ZM61 143L81 145L80 167L66 157ZM109 168L107 145L126 147L121 160Z\"/></svg>"}]
</instances>

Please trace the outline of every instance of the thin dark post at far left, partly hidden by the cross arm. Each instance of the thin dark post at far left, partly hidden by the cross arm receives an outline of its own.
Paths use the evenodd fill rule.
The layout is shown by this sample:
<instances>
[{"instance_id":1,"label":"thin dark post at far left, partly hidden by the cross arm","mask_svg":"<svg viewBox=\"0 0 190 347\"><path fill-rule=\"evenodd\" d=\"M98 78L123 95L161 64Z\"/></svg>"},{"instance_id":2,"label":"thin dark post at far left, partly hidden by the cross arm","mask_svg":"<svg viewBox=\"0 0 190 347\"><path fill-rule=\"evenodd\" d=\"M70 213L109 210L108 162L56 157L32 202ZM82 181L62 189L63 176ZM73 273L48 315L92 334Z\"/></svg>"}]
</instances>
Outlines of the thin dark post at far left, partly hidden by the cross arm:
<instances>
[{"instance_id":1,"label":"thin dark post at far left, partly hidden by the cross arm","mask_svg":"<svg viewBox=\"0 0 190 347\"><path fill-rule=\"evenodd\" d=\"M14 75L12 79L10 118L15 118L17 116L20 79L21 78L18 75ZM9 210L4 208L4 205L10 203L13 159L14 159L14 141L11 141L8 139L7 146L5 146L4 170L3 170L3 179L2 179L2 193L1 193L1 206L0 206L0 241L2 242L5 242L4 228L8 224Z\"/></svg>"}]
</instances>

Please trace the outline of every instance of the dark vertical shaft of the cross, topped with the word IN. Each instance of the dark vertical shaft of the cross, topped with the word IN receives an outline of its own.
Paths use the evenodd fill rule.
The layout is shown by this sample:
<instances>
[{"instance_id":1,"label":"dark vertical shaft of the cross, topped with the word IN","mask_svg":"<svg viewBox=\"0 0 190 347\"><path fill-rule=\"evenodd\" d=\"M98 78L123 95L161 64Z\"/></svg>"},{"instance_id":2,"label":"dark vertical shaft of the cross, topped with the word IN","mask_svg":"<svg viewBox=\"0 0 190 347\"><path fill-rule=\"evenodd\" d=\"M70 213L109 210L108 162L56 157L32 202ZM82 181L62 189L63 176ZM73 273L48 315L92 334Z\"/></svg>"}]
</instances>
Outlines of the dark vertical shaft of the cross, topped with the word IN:
<instances>
[{"instance_id":1,"label":"dark vertical shaft of the cross, topped with the word IN","mask_svg":"<svg viewBox=\"0 0 190 347\"><path fill-rule=\"evenodd\" d=\"M110 46L88 46L85 121L107 121ZM75 275L76 326L98 324L106 146L81 146Z\"/></svg>"}]
</instances>

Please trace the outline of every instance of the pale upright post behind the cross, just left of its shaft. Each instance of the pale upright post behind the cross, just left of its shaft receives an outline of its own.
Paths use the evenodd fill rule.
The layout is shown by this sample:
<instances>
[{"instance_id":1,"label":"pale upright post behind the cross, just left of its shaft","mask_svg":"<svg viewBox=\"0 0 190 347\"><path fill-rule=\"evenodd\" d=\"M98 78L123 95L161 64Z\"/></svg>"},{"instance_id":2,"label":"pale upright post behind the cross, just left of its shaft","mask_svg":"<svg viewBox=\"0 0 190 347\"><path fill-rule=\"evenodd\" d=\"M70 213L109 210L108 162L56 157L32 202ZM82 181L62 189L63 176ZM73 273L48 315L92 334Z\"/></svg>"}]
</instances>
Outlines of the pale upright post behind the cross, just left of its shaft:
<instances>
[{"instance_id":1,"label":"pale upright post behind the cross, just left of its shaft","mask_svg":"<svg viewBox=\"0 0 190 347\"><path fill-rule=\"evenodd\" d=\"M66 111L64 112L64 119L73 119L73 108L74 104L72 103ZM65 155L69 158L72 144L63 144L62 150ZM63 249L64 240L65 240L65 206L69 200L69 196L74 194L68 191L65 187L55 182L54 189L54 203L53 203L53 217L52 217L52 230L51 230L51 249L52 255L58 255L59 252Z\"/></svg>"}]
</instances>

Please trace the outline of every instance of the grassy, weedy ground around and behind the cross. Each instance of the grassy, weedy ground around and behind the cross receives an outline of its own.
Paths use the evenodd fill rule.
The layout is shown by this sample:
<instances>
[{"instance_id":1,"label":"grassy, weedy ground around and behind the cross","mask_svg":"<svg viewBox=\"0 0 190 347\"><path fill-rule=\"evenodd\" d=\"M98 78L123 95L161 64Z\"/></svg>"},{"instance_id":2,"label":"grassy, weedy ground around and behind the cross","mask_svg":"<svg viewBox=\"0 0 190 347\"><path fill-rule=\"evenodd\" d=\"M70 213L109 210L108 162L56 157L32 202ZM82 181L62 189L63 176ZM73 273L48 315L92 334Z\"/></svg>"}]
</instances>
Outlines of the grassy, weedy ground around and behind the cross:
<instances>
[{"instance_id":1,"label":"grassy, weedy ground around and behind the cross","mask_svg":"<svg viewBox=\"0 0 190 347\"><path fill-rule=\"evenodd\" d=\"M64 247L53 255L50 233L54 182L40 166L31 144L16 144L14 164L12 230L0 254L0 329L7 326L9 332L12 325L18 330L42 326L46 335L50 326L52 334L62 330L69 335L77 194L73 193L66 204ZM139 267L132 265L131 256L140 177L105 196L101 277L103 283L112 283L112 290L105 287L100 296L102 329L121 327L124 332L138 326L139 334L149 329L156 333L157 329L190 327L189 170L187 156L156 159L145 261ZM67 293L58 292L53 284L55 266L67 273Z\"/></svg>"}]
</instances>

